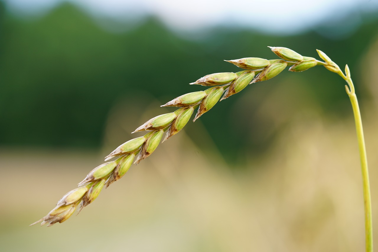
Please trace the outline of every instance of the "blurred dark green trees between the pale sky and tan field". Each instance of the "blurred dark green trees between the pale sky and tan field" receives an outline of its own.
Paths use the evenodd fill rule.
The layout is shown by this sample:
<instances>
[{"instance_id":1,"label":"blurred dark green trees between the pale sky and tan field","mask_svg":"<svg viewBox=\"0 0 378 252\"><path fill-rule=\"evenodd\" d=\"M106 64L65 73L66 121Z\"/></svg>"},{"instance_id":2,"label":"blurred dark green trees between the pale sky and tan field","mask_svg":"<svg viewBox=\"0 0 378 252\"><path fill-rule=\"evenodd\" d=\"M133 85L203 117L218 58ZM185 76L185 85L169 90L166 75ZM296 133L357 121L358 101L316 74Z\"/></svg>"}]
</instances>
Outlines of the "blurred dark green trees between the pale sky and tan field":
<instances>
[{"instance_id":1,"label":"blurred dark green trees between the pale sky and tan field","mask_svg":"<svg viewBox=\"0 0 378 252\"><path fill-rule=\"evenodd\" d=\"M321 49L339 65L348 63L352 76L359 79L360 57L377 37L377 16L361 17L361 26L333 38L324 31L334 34L343 21L293 36L230 26L183 35L170 31L156 17L140 23L114 23L119 31L111 32L68 3L42 16L25 17L9 14L0 2L0 145L99 148L108 113L119 100L149 93L164 104L181 94L203 90L187 84L205 74L238 71L223 59L276 58L268 45L287 46L312 57L316 48ZM299 74L284 72L220 102L201 121L228 161L243 162L237 158L240 150L259 155L280 129L261 135L259 128L269 129L271 122L257 121L256 107L235 110L238 99L264 99L285 83L282 96L310 100L301 107L344 116L350 105L342 82L321 67ZM301 90L291 83L301 83ZM362 102L369 98L359 83L356 88ZM141 104L125 107L125 117L133 106ZM271 107L280 109L279 104ZM138 122L130 125L130 131L139 126ZM188 124L187 132L201 146L201 139L190 128Z\"/></svg>"}]
</instances>

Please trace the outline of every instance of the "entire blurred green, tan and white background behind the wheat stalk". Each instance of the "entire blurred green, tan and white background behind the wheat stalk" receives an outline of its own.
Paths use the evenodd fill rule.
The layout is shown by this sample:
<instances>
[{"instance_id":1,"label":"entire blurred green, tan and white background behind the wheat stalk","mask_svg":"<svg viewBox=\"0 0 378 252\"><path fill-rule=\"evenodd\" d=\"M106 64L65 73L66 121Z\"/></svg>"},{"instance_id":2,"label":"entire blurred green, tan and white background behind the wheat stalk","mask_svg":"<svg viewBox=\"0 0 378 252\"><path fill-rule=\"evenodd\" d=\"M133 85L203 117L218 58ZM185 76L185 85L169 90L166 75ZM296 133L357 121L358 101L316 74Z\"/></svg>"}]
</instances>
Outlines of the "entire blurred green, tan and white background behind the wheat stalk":
<instances>
[{"instance_id":1,"label":"entire blurred green, tan and white background behind the wheat stalk","mask_svg":"<svg viewBox=\"0 0 378 252\"><path fill-rule=\"evenodd\" d=\"M28 227L159 105L266 46L349 65L377 227L377 0L0 0L0 249L363 251L352 108L321 66L219 102L80 215Z\"/></svg>"}]
</instances>

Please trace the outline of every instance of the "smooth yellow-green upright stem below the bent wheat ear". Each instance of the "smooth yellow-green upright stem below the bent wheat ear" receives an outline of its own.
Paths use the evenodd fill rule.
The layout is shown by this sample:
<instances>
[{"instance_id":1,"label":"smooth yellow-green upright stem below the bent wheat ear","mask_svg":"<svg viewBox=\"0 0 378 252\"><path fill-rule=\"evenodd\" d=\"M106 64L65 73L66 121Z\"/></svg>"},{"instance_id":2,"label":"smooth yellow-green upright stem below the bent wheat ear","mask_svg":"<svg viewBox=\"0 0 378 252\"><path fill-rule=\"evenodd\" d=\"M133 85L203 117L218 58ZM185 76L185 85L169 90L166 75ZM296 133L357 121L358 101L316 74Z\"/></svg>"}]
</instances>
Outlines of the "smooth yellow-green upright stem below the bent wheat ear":
<instances>
[{"instance_id":1,"label":"smooth yellow-green upright stem below the bent wheat ear","mask_svg":"<svg viewBox=\"0 0 378 252\"><path fill-rule=\"evenodd\" d=\"M347 80L348 84L353 87L352 80ZM373 225L372 225L372 201L370 196L370 182L369 182L369 169L367 168L367 156L364 140L364 130L362 128L361 113L359 111L357 96L351 92L346 86L347 94L352 104L353 114L356 123L356 133L358 140L359 156L361 159L362 181L364 188L364 206L365 206L365 239L366 239L366 252L373 252ZM353 88L354 89L354 88Z\"/></svg>"}]
</instances>

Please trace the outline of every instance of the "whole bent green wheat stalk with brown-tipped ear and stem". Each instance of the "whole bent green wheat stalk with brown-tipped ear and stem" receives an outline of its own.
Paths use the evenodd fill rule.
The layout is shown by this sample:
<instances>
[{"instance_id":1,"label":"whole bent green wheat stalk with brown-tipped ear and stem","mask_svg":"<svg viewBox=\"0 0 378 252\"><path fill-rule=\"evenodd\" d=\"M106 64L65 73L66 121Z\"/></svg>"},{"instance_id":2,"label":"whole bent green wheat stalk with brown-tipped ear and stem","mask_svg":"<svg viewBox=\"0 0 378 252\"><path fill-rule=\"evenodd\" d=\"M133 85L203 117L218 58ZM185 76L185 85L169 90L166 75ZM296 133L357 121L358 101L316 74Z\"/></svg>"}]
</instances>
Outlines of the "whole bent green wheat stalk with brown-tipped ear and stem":
<instances>
[{"instance_id":1,"label":"whole bent green wheat stalk with brown-tipped ear and stem","mask_svg":"<svg viewBox=\"0 0 378 252\"><path fill-rule=\"evenodd\" d=\"M348 83L348 86L345 85L345 89L350 97L353 112L355 114L361 167L363 170L366 209L366 251L372 251L371 203L366 150L364 149L365 145L361 116L359 115L358 102L348 66L345 66L344 74L339 66L320 50L317 51L319 57L321 57L324 62L313 57L302 56L288 48L270 48L280 57L280 59L267 60L249 57L236 60L226 60L244 70L237 73L209 74L190 83L211 87L204 91L184 94L162 105L161 107L180 108L172 113L153 117L140 127L136 128L133 133L138 131L149 132L144 136L131 139L124 144L121 144L112 153L105 157L105 161L118 157L116 160L99 165L93 169L83 181L78 184L78 188L65 194L58 201L53 210L31 225L42 222L41 226L47 223L48 226L52 226L57 222L62 223L67 220L77 208L79 209L78 212L80 212L83 207L92 203L97 198L104 186L106 188L113 182L122 178L122 176L124 176L129 170L134 160L134 164L139 164L143 159L150 156L160 144L164 132L167 131L163 142L177 134L187 124L196 108L198 108L198 110L193 121L197 120L198 117L214 107L219 100L224 100L233 94L239 93L251 83L271 79L281 73L287 66L290 66L289 71L301 72L316 65L323 65L328 70L338 73Z\"/></svg>"}]
</instances>

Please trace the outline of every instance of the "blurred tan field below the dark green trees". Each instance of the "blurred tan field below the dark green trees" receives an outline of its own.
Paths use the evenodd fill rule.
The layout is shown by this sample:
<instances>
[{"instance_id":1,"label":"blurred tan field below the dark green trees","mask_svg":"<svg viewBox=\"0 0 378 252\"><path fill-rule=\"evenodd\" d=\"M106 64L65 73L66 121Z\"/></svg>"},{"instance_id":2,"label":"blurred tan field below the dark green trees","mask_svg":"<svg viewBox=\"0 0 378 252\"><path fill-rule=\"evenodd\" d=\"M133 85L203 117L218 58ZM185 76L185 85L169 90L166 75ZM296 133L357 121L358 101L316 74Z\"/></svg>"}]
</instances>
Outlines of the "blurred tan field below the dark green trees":
<instances>
[{"instance_id":1,"label":"blurred tan field below the dark green trees","mask_svg":"<svg viewBox=\"0 0 378 252\"><path fill-rule=\"evenodd\" d=\"M105 146L130 138L121 127L125 119L117 116L121 108L109 116ZM364 123L376 216L378 121L375 112L369 113ZM136 116L128 118L140 120ZM335 122L299 114L277 139L264 156L249 159L248 166L258 169L231 172L220 153L202 151L181 132L103 190L80 215L50 228L28 224L45 215L111 148L103 153L2 150L1 247L361 251L363 198L352 119Z\"/></svg>"}]
</instances>

